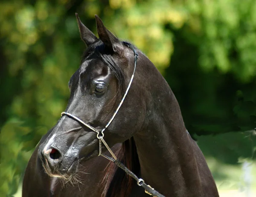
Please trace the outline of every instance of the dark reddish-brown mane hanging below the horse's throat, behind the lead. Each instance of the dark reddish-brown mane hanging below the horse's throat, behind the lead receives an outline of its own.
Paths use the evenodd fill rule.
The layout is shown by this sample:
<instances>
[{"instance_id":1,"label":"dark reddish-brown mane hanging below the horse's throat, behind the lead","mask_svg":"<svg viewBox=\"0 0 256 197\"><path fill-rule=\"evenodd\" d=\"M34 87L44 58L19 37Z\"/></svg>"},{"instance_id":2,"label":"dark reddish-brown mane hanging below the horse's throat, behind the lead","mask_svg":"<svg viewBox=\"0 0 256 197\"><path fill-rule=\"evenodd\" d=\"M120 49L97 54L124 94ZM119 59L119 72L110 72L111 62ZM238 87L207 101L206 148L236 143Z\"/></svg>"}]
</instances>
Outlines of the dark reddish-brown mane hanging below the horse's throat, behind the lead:
<instances>
[{"instance_id":1,"label":"dark reddish-brown mane hanging below the horse's throat, behind the lead","mask_svg":"<svg viewBox=\"0 0 256 197\"><path fill-rule=\"evenodd\" d=\"M134 174L140 173L140 162L133 137L123 142L115 154ZM114 162L109 162L99 185L102 188L102 197L127 197L131 193L134 181Z\"/></svg>"}]
</instances>

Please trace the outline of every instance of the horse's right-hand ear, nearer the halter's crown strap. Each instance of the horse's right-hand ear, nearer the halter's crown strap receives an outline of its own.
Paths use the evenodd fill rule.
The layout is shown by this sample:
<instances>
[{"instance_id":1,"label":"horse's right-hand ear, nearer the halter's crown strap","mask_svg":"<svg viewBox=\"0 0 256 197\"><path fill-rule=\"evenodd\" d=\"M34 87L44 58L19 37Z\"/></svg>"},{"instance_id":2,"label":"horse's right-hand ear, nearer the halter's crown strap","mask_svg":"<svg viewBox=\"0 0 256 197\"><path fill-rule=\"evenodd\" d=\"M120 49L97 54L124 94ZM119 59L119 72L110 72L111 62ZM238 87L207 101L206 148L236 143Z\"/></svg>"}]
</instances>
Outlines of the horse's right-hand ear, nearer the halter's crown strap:
<instances>
[{"instance_id":1,"label":"horse's right-hand ear, nearer the halter's crown strap","mask_svg":"<svg viewBox=\"0 0 256 197\"><path fill-rule=\"evenodd\" d=\"M113 52L119 53L122 55L124 48L122 46L121 41L119 41L116 36L114 36L103 24L102 20L99 18L98 15L95 15L97 31L99 38L105 44L108 49L112 50Z\"/></svg>"}]
</instances>

